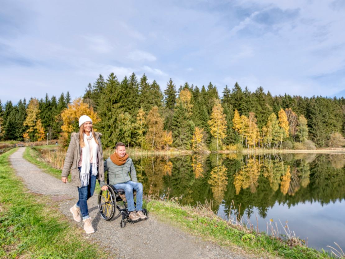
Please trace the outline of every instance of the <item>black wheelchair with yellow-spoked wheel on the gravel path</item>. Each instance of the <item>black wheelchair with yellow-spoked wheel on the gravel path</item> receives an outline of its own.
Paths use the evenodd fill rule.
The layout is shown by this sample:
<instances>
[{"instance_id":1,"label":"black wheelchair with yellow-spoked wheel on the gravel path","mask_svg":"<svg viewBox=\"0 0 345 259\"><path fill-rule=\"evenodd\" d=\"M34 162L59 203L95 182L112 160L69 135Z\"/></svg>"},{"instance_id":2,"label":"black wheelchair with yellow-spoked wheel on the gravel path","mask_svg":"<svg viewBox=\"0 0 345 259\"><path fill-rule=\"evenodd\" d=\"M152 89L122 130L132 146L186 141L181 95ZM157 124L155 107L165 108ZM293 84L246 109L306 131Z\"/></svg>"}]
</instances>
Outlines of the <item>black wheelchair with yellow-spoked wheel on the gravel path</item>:
<instances>
[{"instance_id":1,"label":"black wheelchair with yellow-spoked wheel on the gravel path","mask_svg":"<svg viewBox=\"0 0 345 259\"><path fill-rule=\"evenodd\" d=\"M116 214L116 210L119 211L122 215L122 220L120 222L120 227L124 228L126 226L127 222L136 223L138 221L141 221L141 219L132 221L129 218L128 208L127 208L127 200L125 196L125 190L124 189L115 189L114 186L107 184L108 190L106 191L99 191L98 194L98 210L101 214L102 219L106 221L110 221L114 218ZM133 190L133 196L135 196L136 190ZM118 203L122 203L123 206L119 206ZM134 205L137 204L134 202ZM142 212L147 217L147 210L142 209Z\"/></svg>"}]
</instances>

